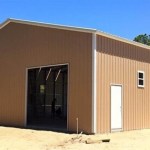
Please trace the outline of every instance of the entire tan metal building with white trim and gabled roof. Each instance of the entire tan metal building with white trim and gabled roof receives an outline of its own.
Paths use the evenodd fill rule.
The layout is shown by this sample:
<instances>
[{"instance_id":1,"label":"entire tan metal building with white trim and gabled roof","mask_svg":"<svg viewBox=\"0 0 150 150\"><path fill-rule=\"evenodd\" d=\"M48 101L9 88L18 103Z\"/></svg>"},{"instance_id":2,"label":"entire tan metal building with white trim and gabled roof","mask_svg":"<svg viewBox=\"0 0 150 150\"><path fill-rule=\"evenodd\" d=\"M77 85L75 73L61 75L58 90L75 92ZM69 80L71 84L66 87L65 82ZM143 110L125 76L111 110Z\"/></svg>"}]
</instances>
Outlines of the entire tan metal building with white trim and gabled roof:
<instances>
[{"instance_id":1,"label":"entire tan metal building with white trim and gabled roof","mask_svg":"<svg viewBox=\"0 0 150 150\"><path fill-rule=\"evenodd\" d=\"M150 128L150 47L84 29L0 25L0 124L87 133Z\"/></svg>"}]
</instances>

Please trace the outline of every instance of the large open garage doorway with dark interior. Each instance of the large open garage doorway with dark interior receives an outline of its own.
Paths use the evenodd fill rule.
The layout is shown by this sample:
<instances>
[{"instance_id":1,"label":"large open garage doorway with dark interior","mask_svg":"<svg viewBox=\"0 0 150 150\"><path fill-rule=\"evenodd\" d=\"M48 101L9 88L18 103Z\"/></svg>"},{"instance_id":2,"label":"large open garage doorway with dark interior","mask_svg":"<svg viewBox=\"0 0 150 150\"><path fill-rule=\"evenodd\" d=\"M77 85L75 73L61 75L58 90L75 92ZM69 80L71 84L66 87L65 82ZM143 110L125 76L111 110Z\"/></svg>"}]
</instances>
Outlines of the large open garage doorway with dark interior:
<instances>
[{"instance_id":1,"label":"large open garage doorway with dark interior","mask_svg":"<svg viewBox=\"0 0 150 150\"><path fill-rule=\"evenodd\" d=\"M67 130L68 65L28 69L27 126Z\"/></svg>"}]
</instances>

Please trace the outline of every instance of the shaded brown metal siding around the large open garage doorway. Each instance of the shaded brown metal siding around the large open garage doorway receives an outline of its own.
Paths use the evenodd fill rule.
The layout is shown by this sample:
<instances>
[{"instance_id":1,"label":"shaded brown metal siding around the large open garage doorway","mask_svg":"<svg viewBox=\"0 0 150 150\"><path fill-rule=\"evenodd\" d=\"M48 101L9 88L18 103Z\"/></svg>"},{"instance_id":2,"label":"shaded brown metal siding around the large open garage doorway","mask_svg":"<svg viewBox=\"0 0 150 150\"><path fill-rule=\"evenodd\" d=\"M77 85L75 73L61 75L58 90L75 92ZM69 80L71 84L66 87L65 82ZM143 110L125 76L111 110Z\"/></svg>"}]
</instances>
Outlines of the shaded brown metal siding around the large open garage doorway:
<instances>
[{"instance_id":1,"label":"shaded brown metal siding around the large open garage doorway","mask_svg":"<svg viewBox=\"0 0 150 150\"><path fill-rule=\"evenodd\" d=\"M91 132L92 35L9 23L0 30L0 124L25 123L26 68L69 63L69 129Z\"/></svg>"}]
</instances>

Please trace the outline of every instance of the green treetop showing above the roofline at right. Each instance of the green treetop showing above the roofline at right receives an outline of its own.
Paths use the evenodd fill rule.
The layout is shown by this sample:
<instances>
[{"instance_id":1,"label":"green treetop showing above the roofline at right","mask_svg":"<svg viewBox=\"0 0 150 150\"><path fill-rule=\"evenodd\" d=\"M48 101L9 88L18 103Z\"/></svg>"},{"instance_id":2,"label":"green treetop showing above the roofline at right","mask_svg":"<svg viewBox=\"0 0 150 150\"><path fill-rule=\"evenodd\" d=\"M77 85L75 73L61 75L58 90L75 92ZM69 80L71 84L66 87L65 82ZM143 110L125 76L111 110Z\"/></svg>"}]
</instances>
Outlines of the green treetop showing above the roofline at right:
<instances>
[{"instance_id":1,"label":"green treetop showing above the roofline at right","mask_svg":"<svg viewBox=\"0 0 150 150\"><path fill-rule=\"evenodd\" d=\"M136 36L133 41L143 43L146 45L150 45L150 35L140 34L140 35Z\"/></svg>"}]
</instances>

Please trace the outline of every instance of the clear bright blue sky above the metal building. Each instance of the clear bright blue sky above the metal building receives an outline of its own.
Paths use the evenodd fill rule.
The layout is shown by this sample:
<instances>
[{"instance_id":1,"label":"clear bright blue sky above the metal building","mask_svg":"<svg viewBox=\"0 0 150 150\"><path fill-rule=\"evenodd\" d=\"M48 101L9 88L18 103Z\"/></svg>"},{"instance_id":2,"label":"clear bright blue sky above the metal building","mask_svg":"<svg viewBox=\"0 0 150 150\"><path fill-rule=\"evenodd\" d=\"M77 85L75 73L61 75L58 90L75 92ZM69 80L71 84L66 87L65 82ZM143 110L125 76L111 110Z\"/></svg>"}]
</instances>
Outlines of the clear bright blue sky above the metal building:
<instances>
[{"instance_id":1,"label":"clear bright blue sky above the metal building","mask_svg":"<svg viewBox=\"0 0 150 150\"><path fill-rule=\"evenodd\" d=\"M7 18L95 28L123 38L150 34L150 0L0 0Z\"/></svg>"}]
</instances>

